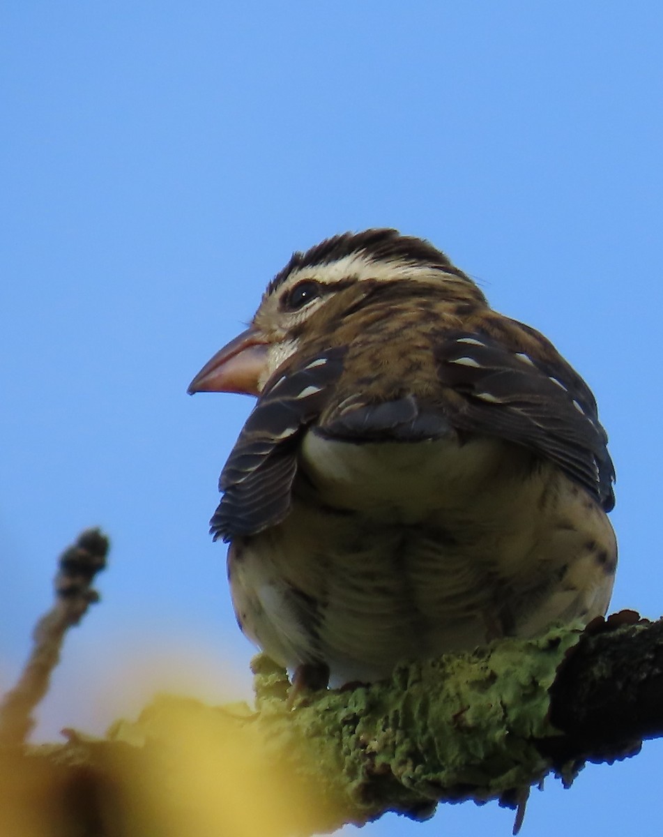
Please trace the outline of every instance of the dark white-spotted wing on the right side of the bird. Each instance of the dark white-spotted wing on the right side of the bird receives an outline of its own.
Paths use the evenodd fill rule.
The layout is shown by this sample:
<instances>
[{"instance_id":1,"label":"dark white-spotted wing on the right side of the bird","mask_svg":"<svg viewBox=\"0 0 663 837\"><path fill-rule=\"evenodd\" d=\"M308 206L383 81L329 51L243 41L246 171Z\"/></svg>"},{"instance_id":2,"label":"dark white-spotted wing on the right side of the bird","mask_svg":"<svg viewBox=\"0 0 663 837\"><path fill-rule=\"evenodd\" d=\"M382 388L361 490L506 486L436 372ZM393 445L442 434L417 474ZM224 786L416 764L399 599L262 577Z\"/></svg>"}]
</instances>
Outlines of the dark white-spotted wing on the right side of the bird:
<instances>
[{"instance_id":1,"label":"dark white-spotted wing on the right side of the bird","mask_svg":"<svg viewBox=\"0 0 663 837\"><path fill-rule=\"evenodd\" d=\"M544 337L516 321L508 323L542 351L519 352L504 340L463 331L436 343L439 380L463 397L445 404L451 424L532 449L610 511L614 466L594 396Z\"/></svg>"}]
</instances>

